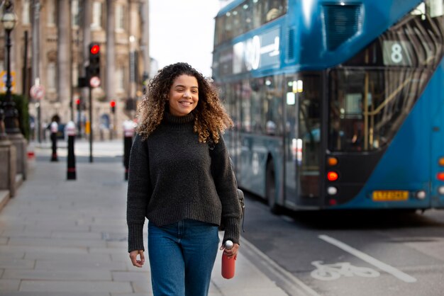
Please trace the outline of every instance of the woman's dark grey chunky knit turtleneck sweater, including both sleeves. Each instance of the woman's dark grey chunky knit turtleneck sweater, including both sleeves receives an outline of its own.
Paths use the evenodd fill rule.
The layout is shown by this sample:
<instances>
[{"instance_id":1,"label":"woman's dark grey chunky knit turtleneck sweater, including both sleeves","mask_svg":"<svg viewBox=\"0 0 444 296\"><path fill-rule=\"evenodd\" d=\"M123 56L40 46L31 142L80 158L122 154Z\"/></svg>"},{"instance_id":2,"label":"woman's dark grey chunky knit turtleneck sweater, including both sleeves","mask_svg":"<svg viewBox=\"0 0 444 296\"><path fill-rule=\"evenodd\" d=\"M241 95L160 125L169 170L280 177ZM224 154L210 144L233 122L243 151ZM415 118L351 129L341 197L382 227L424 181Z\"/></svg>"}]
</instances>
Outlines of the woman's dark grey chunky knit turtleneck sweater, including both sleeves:
<instances>
[{"instance_id":1,"label":"woman's dark grey chunky knit turtleneck sweater, including both sleeves","mask_svg":"<svg viewBox=\"0 0 444 296\"><path fill-rule=\"evenodd\" d=\"M216 225L223 220L223 241L239 243L241 210L225 142L221 137L210 156L193 126L193 113L165 113L148 140L135 137L128 175L128 251L144 250L145 217L157 226L183 219Z\"/></svg>"}]
</instances>

